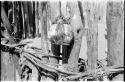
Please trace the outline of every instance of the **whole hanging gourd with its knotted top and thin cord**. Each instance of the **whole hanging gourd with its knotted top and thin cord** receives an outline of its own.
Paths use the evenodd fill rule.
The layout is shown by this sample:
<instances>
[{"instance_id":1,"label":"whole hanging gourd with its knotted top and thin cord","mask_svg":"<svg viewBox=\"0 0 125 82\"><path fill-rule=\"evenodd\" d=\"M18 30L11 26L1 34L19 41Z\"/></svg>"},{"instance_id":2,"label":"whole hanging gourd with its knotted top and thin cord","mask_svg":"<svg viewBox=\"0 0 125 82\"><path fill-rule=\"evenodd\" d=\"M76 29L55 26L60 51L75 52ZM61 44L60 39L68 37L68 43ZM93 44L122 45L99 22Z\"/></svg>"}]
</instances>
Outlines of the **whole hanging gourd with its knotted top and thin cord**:
<instances>
[{"instance_id":1,"label":"whole hanging gourd with its knotted top and thin cord","mask_svg":"<svg viewBox=\"0 0 125 82\"><path fill-rule=\"evenodd\" d=\"M60 6L61 7L61 6ZM48 30L48 39L51 43L57 45L69 45L73 39L72 27L70 25L70 17L64 17L61 13Z\"/></svg>"}]
</instances>

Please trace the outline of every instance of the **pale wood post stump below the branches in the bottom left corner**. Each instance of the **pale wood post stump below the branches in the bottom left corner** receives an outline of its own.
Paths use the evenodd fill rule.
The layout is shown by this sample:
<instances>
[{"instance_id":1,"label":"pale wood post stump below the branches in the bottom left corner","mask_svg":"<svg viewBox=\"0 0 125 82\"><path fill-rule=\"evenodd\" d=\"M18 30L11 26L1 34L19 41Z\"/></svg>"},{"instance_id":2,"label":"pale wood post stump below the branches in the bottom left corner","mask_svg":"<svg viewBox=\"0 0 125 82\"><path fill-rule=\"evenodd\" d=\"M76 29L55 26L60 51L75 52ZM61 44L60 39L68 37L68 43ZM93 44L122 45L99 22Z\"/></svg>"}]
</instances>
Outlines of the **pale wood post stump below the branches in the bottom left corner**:
<instances>
[{"instance_id":1,"label":"pale wood post stump below the branches in the bottom left corner","mask_svg":"<svg viewBox=\"0 0 125 82\"><path fill-rule=\"evenodd\" d=\"M14 81L15 68L11 54L1 51L1 81Z\"/></svg>"}]
</instances>

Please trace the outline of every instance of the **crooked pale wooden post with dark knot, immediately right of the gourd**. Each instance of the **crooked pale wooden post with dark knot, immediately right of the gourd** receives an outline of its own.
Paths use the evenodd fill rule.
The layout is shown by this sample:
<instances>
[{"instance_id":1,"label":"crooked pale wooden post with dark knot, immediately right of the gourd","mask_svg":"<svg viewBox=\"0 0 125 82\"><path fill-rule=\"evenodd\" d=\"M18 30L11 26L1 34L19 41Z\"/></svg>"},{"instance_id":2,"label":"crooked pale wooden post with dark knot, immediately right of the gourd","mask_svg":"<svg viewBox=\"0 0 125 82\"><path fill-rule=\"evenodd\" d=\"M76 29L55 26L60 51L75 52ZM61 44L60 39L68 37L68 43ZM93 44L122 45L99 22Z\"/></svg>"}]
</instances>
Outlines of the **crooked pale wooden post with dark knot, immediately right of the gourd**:
<instances>
[{"instance_id":1,"label":"crooked pale wooden post with dark knot, immediately right of the gourd","mask_svg":"<svg viewBox=\"0 0 125 82\"><path fill-rule=\"evenodd\" d=\"M84 35L85 31L82 3L73 3L71 6L71 13L73 14L71 25L73 26L74 39L70 45L71 52L68 59L68 70L77 72L82 36Z\"/></svg>"}]
</instances>

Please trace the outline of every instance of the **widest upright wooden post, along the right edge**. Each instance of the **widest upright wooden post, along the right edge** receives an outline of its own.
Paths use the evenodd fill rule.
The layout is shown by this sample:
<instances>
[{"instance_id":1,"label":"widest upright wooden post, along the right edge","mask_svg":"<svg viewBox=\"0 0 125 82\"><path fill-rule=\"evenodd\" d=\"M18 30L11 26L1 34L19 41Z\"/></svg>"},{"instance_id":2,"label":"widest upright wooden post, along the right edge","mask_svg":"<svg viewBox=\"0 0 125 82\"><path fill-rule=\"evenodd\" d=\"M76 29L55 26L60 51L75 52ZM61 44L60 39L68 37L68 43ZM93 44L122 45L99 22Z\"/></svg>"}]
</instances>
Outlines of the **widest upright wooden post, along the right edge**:
<instances>
[{"instance_id":1,"label":"widest upright wooden post, along the right edge","mask_svg":"<svg viewBox=\"0 0 125 82\"><path fill-rule=\"evenodd\" d=\"M108 2L106 13L108 66L124 66L124 3Z\"/></svg>"}]
</instances>

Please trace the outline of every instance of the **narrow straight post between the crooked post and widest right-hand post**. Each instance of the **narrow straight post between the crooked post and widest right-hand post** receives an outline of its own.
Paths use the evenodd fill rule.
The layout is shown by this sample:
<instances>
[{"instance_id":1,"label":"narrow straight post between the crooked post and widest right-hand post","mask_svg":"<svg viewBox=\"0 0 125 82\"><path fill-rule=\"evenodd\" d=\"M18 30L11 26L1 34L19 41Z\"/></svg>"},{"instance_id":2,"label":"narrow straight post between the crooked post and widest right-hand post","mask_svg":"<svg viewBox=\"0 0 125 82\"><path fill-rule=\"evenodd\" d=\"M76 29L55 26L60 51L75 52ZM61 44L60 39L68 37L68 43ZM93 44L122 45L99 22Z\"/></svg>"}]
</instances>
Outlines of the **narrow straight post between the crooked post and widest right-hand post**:
<instances>
[{"instance_id":1,"label":"narrow straight post between the crooked post and widest right-hand post","mask_svg":"<svg viewBox=\"0 0 125 82\"><path fill-rule=\"evenodd\" d=\"M88 70L94 70L97 67L98 58L98 3L87 4L87 56Z\"/></svg>"}]
</instances>

